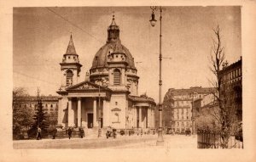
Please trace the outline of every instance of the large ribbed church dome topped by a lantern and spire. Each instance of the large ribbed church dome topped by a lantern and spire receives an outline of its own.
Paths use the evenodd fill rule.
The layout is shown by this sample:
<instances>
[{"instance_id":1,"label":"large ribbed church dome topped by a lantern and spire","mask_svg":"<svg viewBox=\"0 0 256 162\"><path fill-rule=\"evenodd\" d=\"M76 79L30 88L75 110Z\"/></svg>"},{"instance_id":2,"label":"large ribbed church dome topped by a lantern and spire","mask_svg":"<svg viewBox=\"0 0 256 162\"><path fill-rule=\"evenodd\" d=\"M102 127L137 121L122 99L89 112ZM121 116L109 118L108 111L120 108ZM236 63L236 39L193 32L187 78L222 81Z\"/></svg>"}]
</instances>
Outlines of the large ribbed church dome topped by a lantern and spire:
<instances>
[{"instance_id":1,"label":"large ribbed church dome topped by a lantern and spire","mask_svg":"<svg viewBox=\"0 0 256 162\"><path fill-rule=\"evenodd\" d=\"M111 25L108 26L108 41L97 51L90 69L108 67L109 55L112 53L123 53L125 55L126 67L136 70L134 58L119 40L119 26L116 25L114 17Z\"/></svg>"}]
</instances>

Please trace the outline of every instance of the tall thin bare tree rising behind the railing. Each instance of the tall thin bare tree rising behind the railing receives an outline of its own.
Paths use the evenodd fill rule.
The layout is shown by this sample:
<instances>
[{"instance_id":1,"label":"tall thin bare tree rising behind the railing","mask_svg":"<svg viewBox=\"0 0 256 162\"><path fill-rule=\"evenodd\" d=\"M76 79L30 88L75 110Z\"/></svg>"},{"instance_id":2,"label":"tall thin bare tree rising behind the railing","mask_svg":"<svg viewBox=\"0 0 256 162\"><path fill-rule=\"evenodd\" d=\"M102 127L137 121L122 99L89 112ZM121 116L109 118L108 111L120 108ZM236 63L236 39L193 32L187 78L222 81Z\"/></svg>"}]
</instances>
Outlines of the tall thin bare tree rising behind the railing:
<instances>
[{"instance_id":1,"label":"tall thin bare tree rising behind the railing","mask_svg":"<svg viewBox=\"0 0 256 162\"><path fill-rule=\"evenodd\" d=\"M215 121L220 126L220 135L222 138L221 145L223 148L228 148L230 136L234 132L234 125L236 123L236 109L232 106L234 95L232 95L232 88L230 84L224 82L224 75L222 74L222 66L224 63L225 53L221 42L220 28L217 26L214 30L214 37L212 37L211 50L211 67L210 70L214 75L212 86L216 87L217 93L212 93L217 99L218 109L216 113L212 113Z\"/></svg>"}]
</instances>

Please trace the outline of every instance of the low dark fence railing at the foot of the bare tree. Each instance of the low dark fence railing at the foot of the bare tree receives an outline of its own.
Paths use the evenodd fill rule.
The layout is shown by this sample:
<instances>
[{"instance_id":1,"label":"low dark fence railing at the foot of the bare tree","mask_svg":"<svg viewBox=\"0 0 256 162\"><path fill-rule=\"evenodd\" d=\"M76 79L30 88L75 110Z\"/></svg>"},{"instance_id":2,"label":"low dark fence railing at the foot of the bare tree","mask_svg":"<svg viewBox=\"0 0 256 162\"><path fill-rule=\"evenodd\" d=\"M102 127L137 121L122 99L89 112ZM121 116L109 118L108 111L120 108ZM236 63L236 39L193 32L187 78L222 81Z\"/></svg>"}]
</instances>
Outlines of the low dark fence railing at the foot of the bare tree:
<instances>
[{"instance_id":1,"label":"low dark fence railing at the foot of the bare tree","mask_svg":"<svg viewBox=\"0 0 256 162\"><path fill-rule=\"evenodd\" d=\"M197 148L224 148L220 132L197 130ZM227 148L243 148L242 137L232 135L227 143Z\"/></svg>"}]
</instances>

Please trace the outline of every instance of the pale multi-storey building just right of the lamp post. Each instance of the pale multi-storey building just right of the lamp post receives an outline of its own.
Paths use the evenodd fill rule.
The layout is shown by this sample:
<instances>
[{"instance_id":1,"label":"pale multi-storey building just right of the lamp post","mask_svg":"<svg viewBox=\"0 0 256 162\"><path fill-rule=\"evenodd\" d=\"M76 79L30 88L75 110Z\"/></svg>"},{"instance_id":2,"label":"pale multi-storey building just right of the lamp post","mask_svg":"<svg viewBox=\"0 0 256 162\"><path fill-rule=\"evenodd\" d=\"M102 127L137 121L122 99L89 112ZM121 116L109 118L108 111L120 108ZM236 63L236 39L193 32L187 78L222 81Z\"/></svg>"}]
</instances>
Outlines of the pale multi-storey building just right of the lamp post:
<instances>
[{"instance_id":1,"label":"pale multi-storey building just right of the lamp post","mask_svg":"<svg viewBox=\"0 0 256 162\"><path fill-rule=\"evenodd\" d=\"M189 89L170 88L163 103L163 125L181 133L192 129L192 102L211 94L212 87L190 87Z\"/></svg>"}]
</instances>

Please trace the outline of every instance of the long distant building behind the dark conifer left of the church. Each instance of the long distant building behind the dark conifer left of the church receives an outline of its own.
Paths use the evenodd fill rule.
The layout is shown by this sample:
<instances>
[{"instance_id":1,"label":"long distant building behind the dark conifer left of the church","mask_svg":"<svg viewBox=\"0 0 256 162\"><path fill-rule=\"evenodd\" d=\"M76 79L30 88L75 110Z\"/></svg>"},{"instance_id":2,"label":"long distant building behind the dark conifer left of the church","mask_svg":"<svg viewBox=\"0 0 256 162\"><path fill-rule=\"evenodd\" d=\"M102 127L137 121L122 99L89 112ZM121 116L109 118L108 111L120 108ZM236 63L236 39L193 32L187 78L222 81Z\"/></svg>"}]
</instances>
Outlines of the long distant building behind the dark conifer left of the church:
<instances>
[{"instance_id":1,"label":"long distant building behind the dark conifer left of the church","mask_svg":"<svg viewBox=\"0 0 256 162\"><path fill-rule=\"evenodd\" d=\"M44 111L49 117L50 124L56 125L58 120L58 97L56 96L40 96L43 103ZM27 96L20 100L20 107L30 108L33 113L38 109L38 97Z\"/></svg>"}]
</instances>

